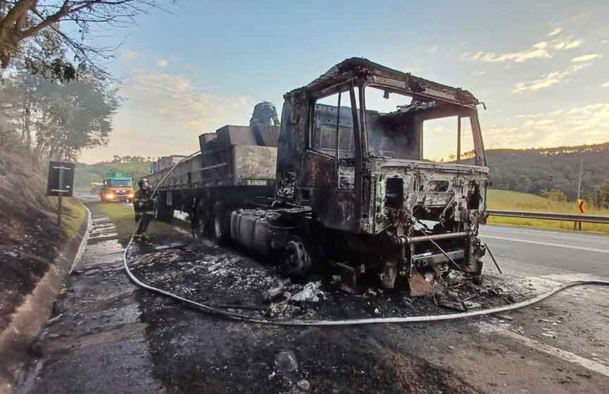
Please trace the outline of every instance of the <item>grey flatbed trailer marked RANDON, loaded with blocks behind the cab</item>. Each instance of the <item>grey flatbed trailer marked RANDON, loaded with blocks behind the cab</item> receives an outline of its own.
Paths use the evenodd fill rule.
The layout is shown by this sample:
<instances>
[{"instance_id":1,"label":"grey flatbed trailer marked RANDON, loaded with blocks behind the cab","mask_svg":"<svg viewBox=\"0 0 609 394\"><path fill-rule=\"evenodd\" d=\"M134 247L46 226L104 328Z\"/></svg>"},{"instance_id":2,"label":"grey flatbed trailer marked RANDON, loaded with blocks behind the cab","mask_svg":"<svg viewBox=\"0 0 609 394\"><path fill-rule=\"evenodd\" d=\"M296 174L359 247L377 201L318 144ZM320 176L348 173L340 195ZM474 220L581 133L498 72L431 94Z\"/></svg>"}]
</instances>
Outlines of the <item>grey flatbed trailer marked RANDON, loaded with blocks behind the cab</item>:
<instances>
[{"instance_id":1,"label":"grey flatbed trailer marked RANDON, loaded with blocks behind the cab","mask_svg":"<svg viewBox=\"0 0 609 394\"><path fill-rule=\"evenodd\" d=\"M228 236L227 211L271 198L275 191L279 127L227 125L201 134L201 153L177 164L158 188L157 218L171 220L174 210L188 212L196 232ZM172 165L149 176L156 186Z\"/></svg>"}]
</instances>

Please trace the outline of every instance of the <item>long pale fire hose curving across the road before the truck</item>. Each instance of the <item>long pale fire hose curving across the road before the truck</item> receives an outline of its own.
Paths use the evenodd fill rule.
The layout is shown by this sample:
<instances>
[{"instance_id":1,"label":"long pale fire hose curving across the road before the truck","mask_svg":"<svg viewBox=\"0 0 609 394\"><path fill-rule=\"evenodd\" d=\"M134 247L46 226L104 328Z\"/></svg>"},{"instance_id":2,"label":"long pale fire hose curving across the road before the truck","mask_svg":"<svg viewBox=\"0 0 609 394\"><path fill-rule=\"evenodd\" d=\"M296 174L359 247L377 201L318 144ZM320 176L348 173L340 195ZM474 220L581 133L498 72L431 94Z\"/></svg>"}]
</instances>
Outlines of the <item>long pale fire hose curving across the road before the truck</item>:
<instances>
[{"instance_id":1,"label":"long pale fire hose curving across the road before the truck","mask_svg":"<svg viewBox=\"0 0 609 394\"><path fill-rule=\"evenodd\" d=\"M187 158L184 158L184 160L192 158L192 156L194 156L198 153L199 153L199 151L196 151L196 152L192 153L191 155L188 155ZM165 176L161 179L161 181L158 182L158 184L156 184L156 186L151 194L151 200L156 195L156 192L158 191L159 186L161 186L161 184L163 184L165 179L167 179L169 174L171 174L171 172L175 169L176 166L177 166L177 163L175 165L173 165L170 168L170 170L165 174ZM142 220L142 219L140 219L140 220ZM600 279L570 281L570 282L567 282L560 286L556 286L555 288L552 288L549 291L536 295L533 298L529 298L527 300L522 300L517 303L503 305L501 307L491 307L491 308L483 309L483 310L452 313L452 314L432 314L432 315L426 315L426 316L405 316L405 317L371 317L371 318L363 318L363 319L340 319L340 320L260 319L260 318L256 318L256 317L250 317L245 314L230 312L227 310L220 309L218 307L213 307L210 305L199 303L197 301L190 300L189 298L184 298L181 295L177 295L170 291L166 291L161 288L151 286L151 285L146 284L143 281L139 280L137 277L135 277L135 275L131 271L128 261L127 261L128 253L132 246L134 235L135 235L135 231L132 234L132 236L129 240L129 243L127 243L127 246L125 247L125 251L123 253L123 267L125 268L125 272L127 272L127 276L130 277L130 279L134 282L134 284L136 284L139 287L145 288L146 290L153 291L154 293L165 295L166 297L169 297L174 300L185 303L198 310L202 310L203 312L215 314L220 317L225 317L227 319L238 320L241 322L257 323L257 324L272 324L272 325L276 325L276 326L356 326L356 325L361 325L361 324L442 322L445 320L465 319L465 318L469 318L469 317L484 316L486 314L510 312L512 310L517 310L517 309L520 309L523 307L529 307L531 305L534 305L536 303L539 303L539 302L545 300L546 298L551 297L552 295L555 295L556 293L559 293L560 291L563 291L567 288L572 288L575 286L609 286L609 281L600 280Z\"/></svg>"}]
</instances>

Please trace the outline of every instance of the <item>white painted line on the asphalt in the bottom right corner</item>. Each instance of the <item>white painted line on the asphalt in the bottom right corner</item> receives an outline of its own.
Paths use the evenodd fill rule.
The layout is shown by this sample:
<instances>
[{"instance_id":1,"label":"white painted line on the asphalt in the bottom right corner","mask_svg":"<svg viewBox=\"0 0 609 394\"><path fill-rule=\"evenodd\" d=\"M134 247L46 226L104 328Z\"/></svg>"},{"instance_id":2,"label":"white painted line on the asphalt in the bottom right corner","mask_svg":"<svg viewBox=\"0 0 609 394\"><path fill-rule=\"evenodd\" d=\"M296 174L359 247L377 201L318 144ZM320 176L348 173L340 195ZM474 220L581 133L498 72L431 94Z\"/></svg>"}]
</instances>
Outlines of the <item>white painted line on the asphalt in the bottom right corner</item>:
<instances>
[{"instance_id":1,"label":"white painted line on the asphalt in the bottom right corner","mask_svg":"<svg viewBox=\"0 0 609 394\"><path fill-rule=\"evenodd\" d=\"M551 345L546 345L545 343L535 341L534 339L529 338L527 336L522 336L519 333L515 333L506 329L501 329L497 326L493 326L488 323L479 323L478 326L480 328L481 333L497 333L501 336L505 336L507 338L513 339L514 341L520 342L523 345L528 346L529 348L539 350L540 352L544 352L548 355L553 355L554 357L558 357L561 360L565 360L566 362L580 365L598 374L609 376L609 367L604 364L601 364L600 362L589 360L585 357L578 356L575 353L567 352L566 350L561 350Z\"/></svg>"}]
</instances>

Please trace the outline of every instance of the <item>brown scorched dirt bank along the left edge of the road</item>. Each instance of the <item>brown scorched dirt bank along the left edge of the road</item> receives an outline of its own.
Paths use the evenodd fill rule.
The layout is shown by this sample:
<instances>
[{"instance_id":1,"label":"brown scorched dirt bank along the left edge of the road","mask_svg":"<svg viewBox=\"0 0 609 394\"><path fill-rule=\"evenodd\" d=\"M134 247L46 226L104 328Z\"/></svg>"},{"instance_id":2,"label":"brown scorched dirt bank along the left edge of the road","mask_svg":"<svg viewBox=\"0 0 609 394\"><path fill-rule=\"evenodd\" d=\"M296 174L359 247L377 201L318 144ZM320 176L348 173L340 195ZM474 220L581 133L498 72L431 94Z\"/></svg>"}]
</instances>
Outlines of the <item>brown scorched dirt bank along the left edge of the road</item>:
<instances>
[{"instance_id":1,"label":"brown scorched dirt bank along the left edge of the road","mask_svg":"<svg viewBox=\"0 0 609 394\"><path fill-rule=\"evenodd\" d=\"M0 332L70 236L57 229L54 201L44 196L45 175L27 155L0 149ZM75 209L66 202L65 217L82 222L84 215Z\"/></svg>"}]
</instances>

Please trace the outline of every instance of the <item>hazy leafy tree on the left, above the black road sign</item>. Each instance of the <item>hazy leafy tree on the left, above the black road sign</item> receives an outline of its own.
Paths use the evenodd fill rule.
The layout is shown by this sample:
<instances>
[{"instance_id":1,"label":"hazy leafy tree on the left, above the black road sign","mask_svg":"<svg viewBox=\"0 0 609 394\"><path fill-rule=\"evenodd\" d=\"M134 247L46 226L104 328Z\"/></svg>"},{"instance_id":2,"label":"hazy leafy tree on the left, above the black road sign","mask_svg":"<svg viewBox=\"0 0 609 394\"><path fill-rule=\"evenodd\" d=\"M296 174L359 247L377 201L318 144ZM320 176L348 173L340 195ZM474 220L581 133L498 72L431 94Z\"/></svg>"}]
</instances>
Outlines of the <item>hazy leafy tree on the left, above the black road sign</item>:
<instances>
[{"instance_id":1,"label":"hazy leafy tree on the left, above the black road sign","mask_svg":"<svg viewBox=\"0 0 609 394\"><path fill-rule=\"evenodd\" d=\"M16 68L2 94L8 98L2 115L39 160L73 160L84 148L106 144L120 104L113 84L87 68L64 83Z\"/></svg>"}]
</instances>

